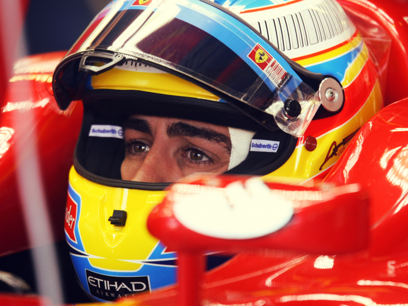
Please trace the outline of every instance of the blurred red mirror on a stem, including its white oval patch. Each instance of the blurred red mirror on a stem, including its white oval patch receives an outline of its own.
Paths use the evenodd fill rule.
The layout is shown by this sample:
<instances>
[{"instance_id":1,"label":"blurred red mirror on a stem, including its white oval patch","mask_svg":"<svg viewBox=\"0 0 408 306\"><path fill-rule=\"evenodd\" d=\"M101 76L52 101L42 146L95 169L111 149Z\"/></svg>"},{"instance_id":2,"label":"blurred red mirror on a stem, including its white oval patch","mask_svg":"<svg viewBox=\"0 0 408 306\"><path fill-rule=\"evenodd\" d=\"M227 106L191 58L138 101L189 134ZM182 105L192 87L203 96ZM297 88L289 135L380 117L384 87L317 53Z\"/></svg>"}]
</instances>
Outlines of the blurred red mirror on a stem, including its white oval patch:
<instances>
[{"instance_id":1,"label":"blurred red mirror on a stem, including its white oval patch","mask_svg":"<svg viewBox=\"0 0 408 306\"><path fill-rule=\"evenodd\" d=\"M198 306L205 250L360 251L368 245L368 208L358 184L307 188L258 178L202 177L172 185L147 227L179 252L179 305Z\"/></svg>"}]
</instances>

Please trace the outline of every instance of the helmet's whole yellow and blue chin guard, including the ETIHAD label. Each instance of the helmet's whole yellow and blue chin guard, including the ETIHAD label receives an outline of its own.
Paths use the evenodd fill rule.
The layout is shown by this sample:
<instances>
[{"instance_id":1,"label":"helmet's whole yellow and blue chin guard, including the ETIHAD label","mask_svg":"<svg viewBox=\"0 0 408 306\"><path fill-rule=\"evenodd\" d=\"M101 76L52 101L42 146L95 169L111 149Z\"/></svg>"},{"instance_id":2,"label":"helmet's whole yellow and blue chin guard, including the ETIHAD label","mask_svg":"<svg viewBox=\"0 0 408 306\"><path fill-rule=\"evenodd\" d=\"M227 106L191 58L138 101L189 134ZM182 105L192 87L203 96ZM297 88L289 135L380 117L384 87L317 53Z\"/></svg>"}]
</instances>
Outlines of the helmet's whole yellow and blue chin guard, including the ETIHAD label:
<instances>
[{"instance_id":1,"label":"helmet's whole yellow and blue chin guard, including the ETIHAD label","mask_svg":"<svg viewBox=\"0 0 408 306\"><path fill-rule=\"evenodd\" d=\"M146 227L165 194L99 185L71 168L65 237L80 284L93 299L114 301L175 283L176 253ZM109 221L114 210L126 212L123 226Z\"/></svg>"}]
</instances>

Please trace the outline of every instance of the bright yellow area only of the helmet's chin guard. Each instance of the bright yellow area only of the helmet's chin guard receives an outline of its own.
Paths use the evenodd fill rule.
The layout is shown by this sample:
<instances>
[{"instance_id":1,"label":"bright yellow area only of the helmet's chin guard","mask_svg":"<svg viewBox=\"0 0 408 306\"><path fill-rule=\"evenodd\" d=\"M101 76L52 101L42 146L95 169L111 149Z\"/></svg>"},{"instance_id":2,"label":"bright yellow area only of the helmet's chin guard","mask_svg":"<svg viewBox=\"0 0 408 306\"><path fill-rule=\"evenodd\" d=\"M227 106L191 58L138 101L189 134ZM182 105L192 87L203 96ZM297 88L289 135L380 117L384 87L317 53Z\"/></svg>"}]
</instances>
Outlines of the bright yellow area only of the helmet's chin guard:
<instances>
[{"instance_id":1,"label":"bright yellow area only of the helmet's chin guard","mask_svg":"<svg viewBox=\"0 0 408 306\"><path fill-rule=\"evenodd\" d=\"M79 175L73 167L69 182L84 203L78 226L85 252L92 254L90 264L106 270L138 270L139 262L146 260L158 243L147 231L146 220L165 192L98 185ZM127 212L124 226L108 221L114 210Z\"/></svg>"}]
</instances>

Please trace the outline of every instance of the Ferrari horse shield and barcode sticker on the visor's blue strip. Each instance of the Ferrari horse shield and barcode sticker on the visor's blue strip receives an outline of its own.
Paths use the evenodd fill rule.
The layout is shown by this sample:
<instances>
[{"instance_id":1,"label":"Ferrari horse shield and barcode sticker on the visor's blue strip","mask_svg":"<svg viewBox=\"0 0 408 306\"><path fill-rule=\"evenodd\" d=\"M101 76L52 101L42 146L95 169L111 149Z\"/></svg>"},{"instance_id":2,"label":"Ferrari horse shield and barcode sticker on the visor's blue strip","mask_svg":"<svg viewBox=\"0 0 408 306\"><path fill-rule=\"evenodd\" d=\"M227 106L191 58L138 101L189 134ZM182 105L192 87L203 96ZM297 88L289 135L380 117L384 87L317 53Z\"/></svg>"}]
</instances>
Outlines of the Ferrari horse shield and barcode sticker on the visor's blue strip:
<instances>
[{"instance_id":1,"label":"Ferrari horse shield and barcode sticker on the visor's blue strip","mask_svg":"<svg viewBox=\"0 0 408 306\"><path fill-rule=\"evenodd\" d=\"M269 80L277 88L280 88L288 80L290 74L260 44L252 49L248 57L268 75Z\"/></svg>"}]
</instances>

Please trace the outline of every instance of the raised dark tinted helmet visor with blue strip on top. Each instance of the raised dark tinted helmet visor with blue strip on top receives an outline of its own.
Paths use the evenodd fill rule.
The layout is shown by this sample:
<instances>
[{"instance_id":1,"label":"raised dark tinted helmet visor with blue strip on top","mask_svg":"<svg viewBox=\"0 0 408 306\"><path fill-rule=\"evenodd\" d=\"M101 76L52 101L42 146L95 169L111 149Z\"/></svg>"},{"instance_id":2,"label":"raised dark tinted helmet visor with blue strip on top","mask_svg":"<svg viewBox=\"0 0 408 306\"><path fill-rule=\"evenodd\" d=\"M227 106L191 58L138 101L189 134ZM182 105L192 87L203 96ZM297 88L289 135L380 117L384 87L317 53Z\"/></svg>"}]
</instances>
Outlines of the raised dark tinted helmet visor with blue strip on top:
<instances>
[{"instance_id":1,"label":"raised dark tinted helmet visor with blue strip on top","mask_svg":"<svg viewBox=\"0 0 408 306\"><path fill-rule=\"evenodd\" d=\"M62 109L81 98L82 73L138 59L213 92L268 129L277 125L296 137L303 134L320 99L246 24L198 0L139 3L111 3L57 67L54 92ZM291 113L293 100L298 107Z\"/></svg>"}]
</instances>

